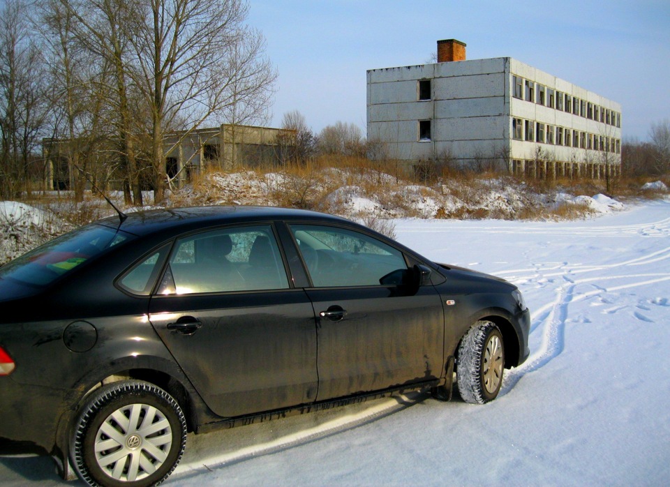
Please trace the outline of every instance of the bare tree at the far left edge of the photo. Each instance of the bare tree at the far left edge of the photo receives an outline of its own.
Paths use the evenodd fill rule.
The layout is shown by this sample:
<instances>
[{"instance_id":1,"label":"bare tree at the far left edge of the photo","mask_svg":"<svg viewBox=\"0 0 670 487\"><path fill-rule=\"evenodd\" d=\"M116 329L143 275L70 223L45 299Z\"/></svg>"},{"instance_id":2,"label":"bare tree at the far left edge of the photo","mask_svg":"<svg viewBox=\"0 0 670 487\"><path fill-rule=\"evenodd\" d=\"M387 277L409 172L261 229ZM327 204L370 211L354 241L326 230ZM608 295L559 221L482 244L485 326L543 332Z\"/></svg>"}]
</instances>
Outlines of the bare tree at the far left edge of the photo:
<instances>
[{"instance_id":1,"label":"bare tree at the far left edge of the photo","mask_svg":"<svg viewBox=\"0 0 670 487\"><path fill-rule=\"evenodd\" d=\"M27 2L0 6L0 193L31 192L31 166L46 119L43 62L31 37Z\"/></svg>"}]
</instances>

